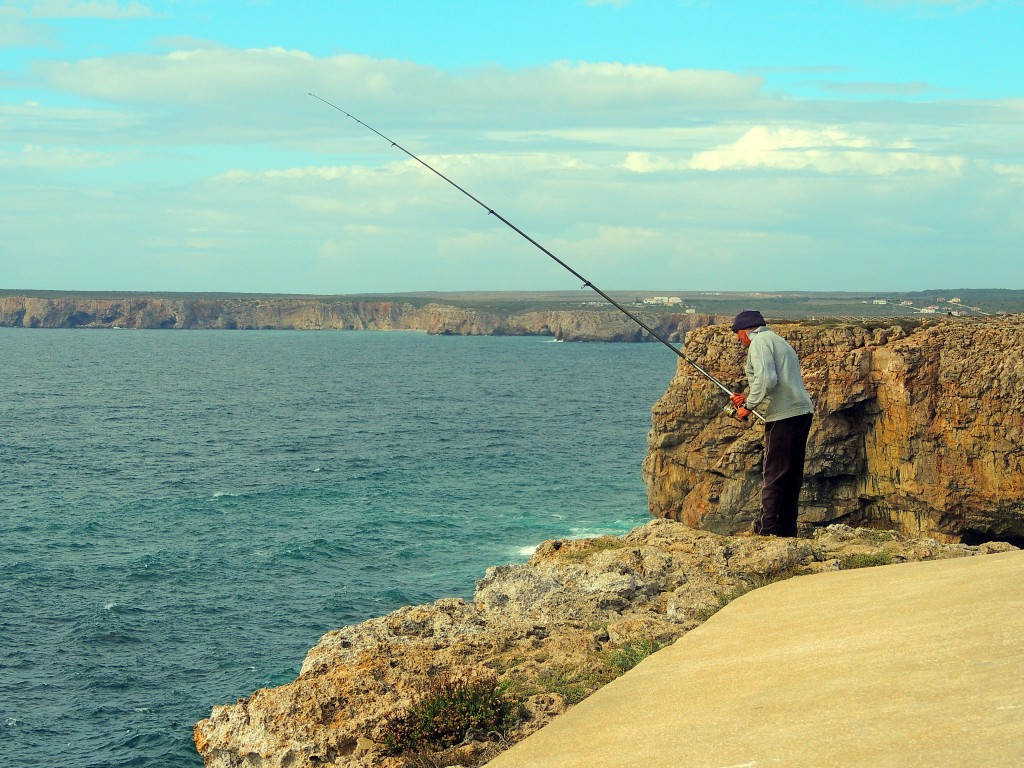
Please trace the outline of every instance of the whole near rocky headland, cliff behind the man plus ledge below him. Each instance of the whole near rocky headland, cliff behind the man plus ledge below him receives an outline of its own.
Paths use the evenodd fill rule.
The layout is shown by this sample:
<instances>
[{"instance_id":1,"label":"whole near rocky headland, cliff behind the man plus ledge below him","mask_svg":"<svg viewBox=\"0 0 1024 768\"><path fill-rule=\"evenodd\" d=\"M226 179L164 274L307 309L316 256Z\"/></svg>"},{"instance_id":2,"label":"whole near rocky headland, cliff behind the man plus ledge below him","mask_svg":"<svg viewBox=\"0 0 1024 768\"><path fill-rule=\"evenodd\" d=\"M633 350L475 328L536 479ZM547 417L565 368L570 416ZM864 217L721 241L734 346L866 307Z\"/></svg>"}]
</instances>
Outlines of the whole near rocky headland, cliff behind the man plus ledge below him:
<instances>
[{"instance_id":1,"label":"whole near rocky headland, cliff behind the man plus ledge below him","mask_svg":"<svg viewBox=\"0 0 1024 768\"><path fill-rule=\"evenodd\" d=\"M745 532L760 429L724 415L721 396L681 361L652 409L644 464L660 519L621 538L547 542L526 563L489 568L470 601L328 633L293 683L197 724L207 765L480 765L659 649L679 658L677 640L754 589L1017 549L1024 317L773 327L801 354L816 403L801 538ZM685 349L740 387L741 349L726 326L695 329ZM871 594L894 609L890 591ZM718 663L714 645L701 652ZM887 652L919 664L899 642ZM513 754L522 753L499 764L516 765Z\"/></svg>"}]
</instances>

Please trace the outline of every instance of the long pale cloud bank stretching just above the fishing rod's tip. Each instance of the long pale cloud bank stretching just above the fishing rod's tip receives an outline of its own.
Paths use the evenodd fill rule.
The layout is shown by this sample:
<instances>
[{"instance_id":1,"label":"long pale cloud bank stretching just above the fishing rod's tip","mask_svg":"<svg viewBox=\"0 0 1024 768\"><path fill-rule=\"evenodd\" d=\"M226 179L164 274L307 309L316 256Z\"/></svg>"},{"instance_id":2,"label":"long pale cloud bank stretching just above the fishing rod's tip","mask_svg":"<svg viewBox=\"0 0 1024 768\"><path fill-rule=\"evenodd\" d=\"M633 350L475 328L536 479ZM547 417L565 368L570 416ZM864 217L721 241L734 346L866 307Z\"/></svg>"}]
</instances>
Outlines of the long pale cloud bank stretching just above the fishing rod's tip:
<instances>
[{"instance_id":1,"label":"long pale cloud bank stretching just above the fishing rod's tip","mask_svg":"<svg viewBox=\"0 0 1024 768\"><path fill-rule=\"evenodd\" d=\"M615 106L625 111L655 99L679 109L694 102L750 99L763 84L760 77L728 72L617 62L558 61L518 71L492 67L453 74L361 54L317 58L285 48L236 50L209 45L162 56L126 54L44 62L38 72L54 88L124 103L208 104L297 90L327 97L341 94L345 104L372 100L403 111L436 105L438 98L459 102L467 111L476 103L486 111L496 101L520 99L544 112Z\"/></svg>"}]
</instances>

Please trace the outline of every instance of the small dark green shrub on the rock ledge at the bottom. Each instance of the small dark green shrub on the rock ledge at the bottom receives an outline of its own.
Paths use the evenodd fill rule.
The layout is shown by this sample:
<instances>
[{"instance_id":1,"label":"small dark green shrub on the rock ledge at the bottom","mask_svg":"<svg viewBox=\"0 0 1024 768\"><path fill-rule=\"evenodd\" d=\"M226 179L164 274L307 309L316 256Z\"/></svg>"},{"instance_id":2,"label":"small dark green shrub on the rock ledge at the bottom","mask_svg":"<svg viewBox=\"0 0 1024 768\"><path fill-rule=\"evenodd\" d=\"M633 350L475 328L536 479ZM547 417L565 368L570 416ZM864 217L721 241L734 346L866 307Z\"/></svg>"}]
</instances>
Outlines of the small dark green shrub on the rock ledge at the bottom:
<instances>
[{"instance_id":1,"label":"small dark green shrub on the rock ledge at the bottom","mask_svg":"<svg viewBox=\"0 0 1024 768\"><path fill-rule=\"evenodd\" d=\"M388 753L424 753L461 743L473 732L499 734L519 717L519 703L495 678L434 678L383 736Z\"/></svg>"}]
</instances>

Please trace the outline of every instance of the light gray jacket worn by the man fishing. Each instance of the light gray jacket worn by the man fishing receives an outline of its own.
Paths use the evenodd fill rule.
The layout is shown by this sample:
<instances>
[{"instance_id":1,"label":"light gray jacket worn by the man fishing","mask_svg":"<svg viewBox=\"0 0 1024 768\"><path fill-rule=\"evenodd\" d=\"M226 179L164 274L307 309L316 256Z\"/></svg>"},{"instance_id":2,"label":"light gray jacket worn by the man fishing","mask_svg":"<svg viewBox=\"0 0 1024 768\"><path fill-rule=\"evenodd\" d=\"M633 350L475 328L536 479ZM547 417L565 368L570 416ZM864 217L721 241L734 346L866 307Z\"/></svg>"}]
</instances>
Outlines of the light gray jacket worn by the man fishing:
<instances>
[{"instance_id":1,"label":"light gray jacket worn by the man fishing","mask_svg":"<svg viewBox=\"0 0 1024 768\"><path fill-rule=\"evenodd\" d=\"M749 334L745 373L751 391L746 408L756 410L765 421L814 413L793 347L766 326L751 329Z\"/></svg>"}]
</instances>

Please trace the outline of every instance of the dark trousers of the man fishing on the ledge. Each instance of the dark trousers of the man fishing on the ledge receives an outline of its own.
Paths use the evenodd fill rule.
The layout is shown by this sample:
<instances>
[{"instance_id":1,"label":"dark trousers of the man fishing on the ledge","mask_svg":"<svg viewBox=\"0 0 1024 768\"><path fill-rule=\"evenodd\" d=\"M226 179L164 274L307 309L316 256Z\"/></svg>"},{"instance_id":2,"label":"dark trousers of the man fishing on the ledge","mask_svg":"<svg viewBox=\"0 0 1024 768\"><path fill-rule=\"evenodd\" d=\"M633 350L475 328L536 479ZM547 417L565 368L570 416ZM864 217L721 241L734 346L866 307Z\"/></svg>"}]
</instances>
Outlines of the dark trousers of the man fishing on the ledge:
<instances>
[{"instance_id":1,"label":"dark trousers of the man fishing on the ledge","mask_svg":"<svg viewBox=\"0 0 1024 768\"><path fill-rule=\"evenodd\" d=\"M762 536L796 536L800 486L804 483L804 455L811 415L765 424L765 474L761 488L761 517L754 531Z\"/></svg>"}]
</instances>

